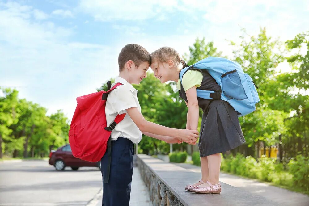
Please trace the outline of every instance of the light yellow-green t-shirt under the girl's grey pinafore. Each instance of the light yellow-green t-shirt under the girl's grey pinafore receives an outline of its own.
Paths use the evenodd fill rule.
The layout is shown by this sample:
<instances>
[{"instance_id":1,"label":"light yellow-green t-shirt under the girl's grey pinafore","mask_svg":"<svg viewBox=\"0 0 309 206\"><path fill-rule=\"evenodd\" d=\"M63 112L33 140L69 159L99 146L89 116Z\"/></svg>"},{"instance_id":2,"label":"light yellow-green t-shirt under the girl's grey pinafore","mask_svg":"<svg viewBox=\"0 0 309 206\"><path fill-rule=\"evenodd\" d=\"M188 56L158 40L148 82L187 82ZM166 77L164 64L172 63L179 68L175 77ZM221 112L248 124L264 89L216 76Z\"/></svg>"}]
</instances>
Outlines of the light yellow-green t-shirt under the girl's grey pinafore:
<instances>
[{"instance_id":1,"label":"light yellow-green t-shirt under the girl's grey pinafore","mask_svg":"<svg viewBox=\"0 0 309 206\"><path fill-rule=\"evenodd\" d=\"M187 91L188 89L195 86L196 88L201 86L203 80L203 74L199 70L189 70L186 73L184 73L184 76L182 77L182 86L184 87L184 91ZM178 90L180 90L180 79L178 79L178 82L176 84L176 87Z\"/></svg>"}]
</instances>

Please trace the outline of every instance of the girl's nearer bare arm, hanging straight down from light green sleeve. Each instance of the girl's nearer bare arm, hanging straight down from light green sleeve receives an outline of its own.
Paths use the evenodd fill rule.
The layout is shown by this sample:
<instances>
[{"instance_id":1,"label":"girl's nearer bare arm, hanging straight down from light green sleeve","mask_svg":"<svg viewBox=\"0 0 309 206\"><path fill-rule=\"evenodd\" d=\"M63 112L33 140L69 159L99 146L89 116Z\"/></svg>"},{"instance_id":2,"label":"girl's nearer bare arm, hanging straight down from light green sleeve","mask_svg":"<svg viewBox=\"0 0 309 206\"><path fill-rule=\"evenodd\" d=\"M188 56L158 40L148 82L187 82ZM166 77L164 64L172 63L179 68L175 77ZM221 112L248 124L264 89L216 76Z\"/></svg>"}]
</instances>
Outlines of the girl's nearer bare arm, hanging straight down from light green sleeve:
<instances>
[{"instance_id":1,"label":"girl's nearer bare arm, hanging straight down from light green sleeve","mask_svg":"<svg viewBox=\"0 0 309 206\"><path fill-rule=\"evenodd\" d=\"M192 88L188 89L186 91L186 95L187 95L187 99L188 99L187 124L188 124L188 120L189 120L190 129L197 130L197 124L198 124L198 118L199 118L199 109L198 109L198 102L197 102L196 87L193 86Z\"/></svg>"}]
</instances>

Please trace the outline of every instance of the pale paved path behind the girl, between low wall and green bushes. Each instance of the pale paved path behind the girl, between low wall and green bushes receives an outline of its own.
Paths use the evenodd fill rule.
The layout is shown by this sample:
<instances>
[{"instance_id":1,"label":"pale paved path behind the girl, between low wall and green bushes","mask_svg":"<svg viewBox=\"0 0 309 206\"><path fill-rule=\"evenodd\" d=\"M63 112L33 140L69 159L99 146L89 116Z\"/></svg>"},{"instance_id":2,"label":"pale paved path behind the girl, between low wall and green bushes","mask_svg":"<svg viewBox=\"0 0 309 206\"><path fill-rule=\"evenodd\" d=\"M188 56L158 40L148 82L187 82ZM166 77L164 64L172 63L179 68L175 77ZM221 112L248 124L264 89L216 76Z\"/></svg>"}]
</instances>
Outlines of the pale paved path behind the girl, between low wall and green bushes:
<instances>
[{"instance_id":1,"label":"pale paved path behind the girl, between low wall and green bushes","mask_svg":"<svg viewBox=\"0 0 309 206\"><path fill-rule=\"evenodd\" d=\"M173 164L196 173L201 173L201 167L199 166L186 163ZM258 180L246 179L236 175L221 172L220 181L242 190L254 193L255 195L263 196L264 198L272 200L273 202L276 202L280 205L309 205L309 197L307 195L292 192L280 187L275 187L267 183L259 182Z\"/></svg>"}]
</instances>

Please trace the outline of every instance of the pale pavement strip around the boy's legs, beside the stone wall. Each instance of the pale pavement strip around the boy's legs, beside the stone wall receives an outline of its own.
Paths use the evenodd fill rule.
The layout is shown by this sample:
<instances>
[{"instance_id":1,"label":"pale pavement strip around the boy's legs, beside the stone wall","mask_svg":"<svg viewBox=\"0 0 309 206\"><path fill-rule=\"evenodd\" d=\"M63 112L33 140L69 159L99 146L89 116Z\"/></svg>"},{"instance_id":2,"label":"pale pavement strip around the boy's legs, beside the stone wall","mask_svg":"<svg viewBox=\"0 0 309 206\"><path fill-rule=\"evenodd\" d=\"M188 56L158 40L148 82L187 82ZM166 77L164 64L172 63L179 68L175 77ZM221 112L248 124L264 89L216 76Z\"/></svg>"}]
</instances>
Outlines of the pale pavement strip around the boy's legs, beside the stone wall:
<instances>
[{"instance_id":1,"label":"pale pavement strip around the boy's legs, beside the stone wall","mask_svg":"<svg viewBox=\"0 0 309 206\"><path fill-rule=\"evenodd\" d=\"M102 205L102 190L101 194L98 194L97 199L99 200L96 206ZM133 169L130 206L152 206L150 201L150 195L148 188L142 180L141 174L138 167Z\"/></svg>"}]
</instances>

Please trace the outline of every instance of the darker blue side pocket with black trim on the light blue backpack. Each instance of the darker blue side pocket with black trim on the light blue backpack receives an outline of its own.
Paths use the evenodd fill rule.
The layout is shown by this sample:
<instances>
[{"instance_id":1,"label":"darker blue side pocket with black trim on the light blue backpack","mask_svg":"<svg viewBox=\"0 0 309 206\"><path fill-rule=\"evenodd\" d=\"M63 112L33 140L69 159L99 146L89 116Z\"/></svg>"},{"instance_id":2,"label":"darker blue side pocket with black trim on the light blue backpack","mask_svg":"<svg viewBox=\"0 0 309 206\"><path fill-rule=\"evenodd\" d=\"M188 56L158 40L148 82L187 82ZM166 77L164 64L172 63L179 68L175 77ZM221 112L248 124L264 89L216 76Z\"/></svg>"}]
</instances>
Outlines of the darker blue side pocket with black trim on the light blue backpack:
<instances>
[{"instance_id":1,"label":"darker blue side pocket with black trim on the light blue backpack","mask_svg":"<svg viewBox=\"0 0 309 206\"><path fill-rule=\"evenodd\" d=\"M243 100L248 98L236 69L226 72L221 78L222 91L227 100Z\"/></svg>"}]
</instances>

